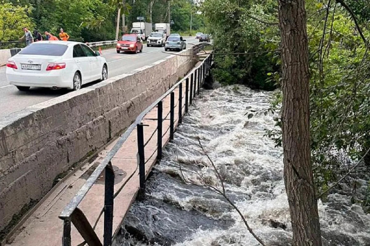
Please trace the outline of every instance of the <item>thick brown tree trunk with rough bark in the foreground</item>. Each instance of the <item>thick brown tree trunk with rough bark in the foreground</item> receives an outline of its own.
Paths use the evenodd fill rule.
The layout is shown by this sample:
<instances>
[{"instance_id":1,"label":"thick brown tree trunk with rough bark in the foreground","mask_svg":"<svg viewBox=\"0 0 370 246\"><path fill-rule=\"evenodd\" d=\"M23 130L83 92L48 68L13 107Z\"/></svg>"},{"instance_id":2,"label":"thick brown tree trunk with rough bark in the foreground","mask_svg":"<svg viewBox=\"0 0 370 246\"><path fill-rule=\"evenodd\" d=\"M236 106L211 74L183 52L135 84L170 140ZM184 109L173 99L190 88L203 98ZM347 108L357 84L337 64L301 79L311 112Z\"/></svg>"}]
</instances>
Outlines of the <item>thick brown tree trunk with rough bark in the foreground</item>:
<instances>
[{"instance_id":1,"label":"thick brown tree trunk with rough bark in the foreground","mask_svg":"<svg viewBox=\"0 0 370 246\"><path fill-rule=\"evenodd\" d=\"M310 156L309 67L305 0L279 0L284 181L293 245L321 246Z\"/></svg>"}]
</instances>

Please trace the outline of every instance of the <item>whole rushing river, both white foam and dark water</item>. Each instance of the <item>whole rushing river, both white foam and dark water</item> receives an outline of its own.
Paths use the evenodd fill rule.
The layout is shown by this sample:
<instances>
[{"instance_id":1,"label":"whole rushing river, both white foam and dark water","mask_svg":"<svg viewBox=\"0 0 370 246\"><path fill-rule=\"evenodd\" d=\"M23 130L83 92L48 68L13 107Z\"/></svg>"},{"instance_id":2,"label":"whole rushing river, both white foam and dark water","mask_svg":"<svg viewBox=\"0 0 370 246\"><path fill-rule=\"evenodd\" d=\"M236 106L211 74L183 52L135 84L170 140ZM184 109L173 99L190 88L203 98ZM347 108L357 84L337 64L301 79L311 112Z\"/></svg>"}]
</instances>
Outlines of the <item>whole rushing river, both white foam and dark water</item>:
<instances>
[{"instance_id":1,"label":"whole rushing river, both white foam and dark water","mask_svg":"<svg viewBox=\"0 0 370 246\"><path fill-rule=\"evenodd\" d=\"M147 180L145 200L129 210L116 244L258 245L235 209L201 187L221 185L196 145L200 139L225 181L227 196L253 232L266 245L291 245L282 149L263 136L275 124L273 115L265 114L268 97L268 92L242 86L201 93ZM327 202L319 201L319 215L324 245L370 245L370 216L346 195L334 193Z\"/></svg>"}]
</instances>

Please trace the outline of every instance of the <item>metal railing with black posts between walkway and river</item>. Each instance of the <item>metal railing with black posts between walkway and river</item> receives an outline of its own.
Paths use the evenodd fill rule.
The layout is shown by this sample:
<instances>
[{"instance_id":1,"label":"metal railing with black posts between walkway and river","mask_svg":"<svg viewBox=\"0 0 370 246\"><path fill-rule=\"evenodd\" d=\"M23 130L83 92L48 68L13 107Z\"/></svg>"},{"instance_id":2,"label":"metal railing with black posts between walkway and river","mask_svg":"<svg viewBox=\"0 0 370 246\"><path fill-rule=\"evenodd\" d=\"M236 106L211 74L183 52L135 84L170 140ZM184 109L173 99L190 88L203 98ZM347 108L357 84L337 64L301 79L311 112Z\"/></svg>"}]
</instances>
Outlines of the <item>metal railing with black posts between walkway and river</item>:
<instances>
[{"instance_id":1,"label":"metal railing with black posts between walkway and river","mask_svg":"<svg viewBox=\"0 0 370 246\"><path fill-rule=\"evenodd\" d=\"M201 50L201 47L195 46L193 48L193 54L195 55ZM178 124L182 123L182 110L185 109L185 113L188 112L188 105L192 104L192 99L199 94L199 89L201 88L205 77L209 74L209 70L212 64L212 54L208 55L200 65L195 67L188 75L186 75L183 79L177 82L174 86L171 87L165 94L163 94L160 98L158 98L154 103L152 103L149 107L147 107L144 111L139 114L139 116L135 119L135 122L132 123L127 130L120 136L118 141L115 143L113 148L107 153L105 158L102 162L97 166L94 172L90 175L87 179L85 184L80 188L80 190L75 194L75 196L71 199L68 205L63 209L59 218L63 220L63 238L62 238L62 245L63 246L71 246L71 222L74 224L75 228L84 238L85 242L90 246L110 246L112 244L112 232L113 232L113 205L114 205L114 198L122 191L125 184L137 173L137 169L139 169L139 198L144 197L145 193L145 146L149 141L151 141L152 137L157 132L157 149L154 150L151 157L154 156L155 152L157 152L157 160L161 160L162 157L162 138L165 136L169 130L169 139L170 141L174 139L174 124L175 124L175 108L178 105ZM183 83L185 82L185 96L182 93ZM189 89L190 85L190 89ZM178 88L179 93L179 100L176 105L175 104L175 90ZM170 112L163 117L163 106L162 101L170 95ZM185 105L182 106L182 101L185 97ZM150 138L147 142L144 143L144 125L142 124L142 120L144 119L145 115L148 114L154 107L158 107L158 115L157 115L157 128L154 130ZM163 134L162 130L162 123L165 119L167 119L168 115L170 116L170 124L168 129ZM118 152L121 148L122 144L128 139L129 135L137 129L137 142L138 142L138 159L139 163L136 170L128 177L128 179L122 184L122 186L114 193L114 171L112 169L111 159L114 155ZM149 157L147 162L151 159ZM102 171L105 171L105 193L104 193L104 208L102 208L100 215L98 216L95 225L91 226L88 222L84 213L77 208L80 202L83 200L85 195L88 193L92 185L97 181L100 177ZM99 221L102 213L104 212L104 242L103 244L100 242L98 236L96 235L94 229Z\"/></svg>"}]
</instances>

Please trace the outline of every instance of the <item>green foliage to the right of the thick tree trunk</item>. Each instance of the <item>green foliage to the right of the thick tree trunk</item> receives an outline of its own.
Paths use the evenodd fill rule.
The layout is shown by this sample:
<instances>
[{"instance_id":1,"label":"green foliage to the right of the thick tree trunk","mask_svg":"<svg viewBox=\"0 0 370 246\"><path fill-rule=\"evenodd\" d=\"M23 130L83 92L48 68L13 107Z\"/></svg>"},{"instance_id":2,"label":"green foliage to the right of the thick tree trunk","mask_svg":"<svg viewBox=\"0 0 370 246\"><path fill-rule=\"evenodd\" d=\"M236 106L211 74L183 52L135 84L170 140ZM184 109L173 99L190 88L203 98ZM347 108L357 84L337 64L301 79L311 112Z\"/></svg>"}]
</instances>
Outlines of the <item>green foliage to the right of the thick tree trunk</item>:
<instances>
[{"instance_id":1,"label":"green foliage to the right of the thick tree trunk","mask_svg":"<svg viewBox=\"0 0 370 246\"><path fill-rule=\"evenodd\" d=\"M370 148L370 51L348 11L340 4L334 8L334 4L332 1L323 35L326 19L323 8L327 1L306 0L311 75L310 139L319 193L348 171L340 153L345 153L352 161L364 157L365 164L370 164L367 153ZM354 12L366 39L370 40L365 21L369 19L370 11L363 8L366 3L348 1L348 4L357 6ZM281 100L281 93L276 93L270 111L278 113ZM277 125L281 124L279 114L275 119ZM266 135L281 146L279 128L267 131ZM369 206L369 198L363 201Z\"/></svg>"}]
</instances>

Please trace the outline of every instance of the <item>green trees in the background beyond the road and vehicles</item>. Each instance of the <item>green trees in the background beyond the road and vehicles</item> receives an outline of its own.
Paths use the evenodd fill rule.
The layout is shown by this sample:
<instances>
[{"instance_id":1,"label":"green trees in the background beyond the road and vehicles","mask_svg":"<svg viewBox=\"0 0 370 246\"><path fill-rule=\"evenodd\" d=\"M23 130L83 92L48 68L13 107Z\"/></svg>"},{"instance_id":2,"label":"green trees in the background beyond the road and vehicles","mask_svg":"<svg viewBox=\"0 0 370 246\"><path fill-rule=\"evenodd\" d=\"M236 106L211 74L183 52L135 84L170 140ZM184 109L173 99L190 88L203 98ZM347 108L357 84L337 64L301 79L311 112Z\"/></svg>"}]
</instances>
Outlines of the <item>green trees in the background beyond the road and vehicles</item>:
<instances>
[{"instance_id":1,"label":"green trees in the background beyond the road and vehicles","mask_svg":"<svg viewBox=\"0 0 370 246\"><path fill-rule=\"evenodd\" d=\"M1 0L0 0L1 1ZM168 1L166 0L2 0L0 9L0 40L17 40L23 35L21 27L33 31L36 27L43 34L49 31L58 36L62 27L74 41L94 42L115 39L117 11L125 11L128 29L138 16L150 22L150 3L153 24L168 22ZM17 11L4 8L20 7ZM22 8L33 8L23 10ZM196 14L196 7L189 0L171 1L171 19L175 25L172 32L187 31L190 14L193 11L193 29L204 26L202 15ZM120 17L121 18L121 17ZM121 24L122 22L120 22ZM120 25L120 32L122 31Z\"/></svg>"}]
</instances>

